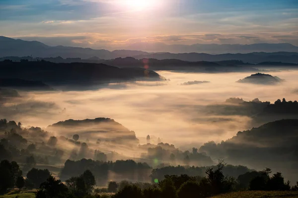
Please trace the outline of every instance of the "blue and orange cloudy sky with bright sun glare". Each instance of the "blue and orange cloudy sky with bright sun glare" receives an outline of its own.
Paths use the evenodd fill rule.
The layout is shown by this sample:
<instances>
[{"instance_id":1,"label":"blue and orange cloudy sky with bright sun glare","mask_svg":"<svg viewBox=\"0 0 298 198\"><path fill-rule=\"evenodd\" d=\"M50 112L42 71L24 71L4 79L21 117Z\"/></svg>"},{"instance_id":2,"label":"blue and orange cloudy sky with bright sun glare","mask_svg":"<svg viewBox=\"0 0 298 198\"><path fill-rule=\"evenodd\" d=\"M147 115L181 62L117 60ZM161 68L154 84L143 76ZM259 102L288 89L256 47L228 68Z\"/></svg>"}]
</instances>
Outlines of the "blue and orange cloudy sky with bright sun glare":
<instances>
[{"instance_id":1,"label":"blue and orange cloudy sky with bright sun glare","mask_svg":"<svg viewBox=\"0 0 298 198\"><path fill-rule=\"evenodd\" d=\"M50 46L291 43L298 0L0 0L0 35Z\"/></svg>"}]
</instances>

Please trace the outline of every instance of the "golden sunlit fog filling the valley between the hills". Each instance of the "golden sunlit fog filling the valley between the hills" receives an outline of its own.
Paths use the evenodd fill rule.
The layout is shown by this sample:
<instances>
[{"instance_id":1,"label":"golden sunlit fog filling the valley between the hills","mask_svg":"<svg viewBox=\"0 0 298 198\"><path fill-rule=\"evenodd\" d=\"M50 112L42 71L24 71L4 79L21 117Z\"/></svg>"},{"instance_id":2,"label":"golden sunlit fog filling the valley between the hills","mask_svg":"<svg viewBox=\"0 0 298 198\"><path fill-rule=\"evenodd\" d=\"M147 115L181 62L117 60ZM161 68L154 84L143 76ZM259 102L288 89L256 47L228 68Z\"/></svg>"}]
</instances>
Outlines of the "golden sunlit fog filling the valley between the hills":
<instances>
[{"instance_id":1,"label":"golden sunlit fog filling the valley between the hills","mask_svg":"<svg viewBox=\"0 0 298 198\"><path fill-rule=\"evenodd\" d=\"M92 91L19 92L21 98L1 101L0 117L20 121L23 127L41 128L67 119L107 117L135 131L141 144L150 135L176 147L191 148L221 142L252 127L250 117L210 115L204 110L206 105L231 97L270 102L298 98L298 71L266 72L286 80L274 86L235 82L252 73L157 72L169 80L110 84ZM191 81L210 83L181 85ZM55 135L71 138L73 133Z\"/></svg>"}]
</instances>

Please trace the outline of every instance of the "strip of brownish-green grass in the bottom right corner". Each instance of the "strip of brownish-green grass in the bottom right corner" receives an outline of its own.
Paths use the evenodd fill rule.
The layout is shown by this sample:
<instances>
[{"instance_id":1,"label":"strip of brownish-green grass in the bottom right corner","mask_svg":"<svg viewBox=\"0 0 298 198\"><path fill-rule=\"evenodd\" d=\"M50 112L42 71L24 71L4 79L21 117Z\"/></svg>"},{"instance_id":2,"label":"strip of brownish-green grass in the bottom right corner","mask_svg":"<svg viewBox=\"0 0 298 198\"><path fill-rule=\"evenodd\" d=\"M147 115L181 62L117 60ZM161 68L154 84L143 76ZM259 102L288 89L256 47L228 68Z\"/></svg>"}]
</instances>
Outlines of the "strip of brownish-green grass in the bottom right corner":
<instances>
[{"instance_id":1,"label":"strip of brownish-green grass in the bottom right corner","mask_svg":"<svg viewBox=\"0 0 298 198\"><path fill-rule=\"evenodd\" d=\"M212 198L298 198L295 191L243 191L218 195Z\"/></svg>"}]
</instances>

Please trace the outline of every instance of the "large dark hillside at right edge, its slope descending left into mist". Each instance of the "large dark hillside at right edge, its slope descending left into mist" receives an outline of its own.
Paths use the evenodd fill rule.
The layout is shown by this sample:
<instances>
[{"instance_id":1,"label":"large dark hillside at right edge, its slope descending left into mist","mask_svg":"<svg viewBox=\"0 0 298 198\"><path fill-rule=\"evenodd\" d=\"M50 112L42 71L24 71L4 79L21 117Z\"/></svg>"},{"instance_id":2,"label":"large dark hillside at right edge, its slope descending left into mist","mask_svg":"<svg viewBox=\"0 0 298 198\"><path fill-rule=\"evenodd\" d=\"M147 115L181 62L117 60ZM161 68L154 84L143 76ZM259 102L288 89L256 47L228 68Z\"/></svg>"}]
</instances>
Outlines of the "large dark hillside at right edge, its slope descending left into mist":
<instances>
[{"instance_id":1,"label":"large dark hillside at right edge, its slope descending left into mist","mask_svg":"<svg viewBox=\"0 0 298 198\"><path fill-rule=\"evenodd\" d=\"M215 159L224 158L231 164L245 164L259 170L270 167L273 171L283 172L287 179L296 181L297 141L298 119L278 120L238 132L220 144L206 143L199 151Z\"/></svg>"}]
</instances>

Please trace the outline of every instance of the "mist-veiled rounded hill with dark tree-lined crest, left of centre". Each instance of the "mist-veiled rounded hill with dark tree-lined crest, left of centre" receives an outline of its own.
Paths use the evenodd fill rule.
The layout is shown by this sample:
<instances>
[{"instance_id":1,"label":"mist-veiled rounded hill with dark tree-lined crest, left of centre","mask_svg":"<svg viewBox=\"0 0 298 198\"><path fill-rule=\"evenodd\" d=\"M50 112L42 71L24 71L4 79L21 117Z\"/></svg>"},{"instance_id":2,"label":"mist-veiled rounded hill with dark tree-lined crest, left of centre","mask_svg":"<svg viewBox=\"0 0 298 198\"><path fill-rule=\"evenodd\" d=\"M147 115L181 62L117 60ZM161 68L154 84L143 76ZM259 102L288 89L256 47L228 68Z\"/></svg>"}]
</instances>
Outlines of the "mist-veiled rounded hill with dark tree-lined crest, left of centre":
<instances>
[{"instance_id":1,"label":"mist-veiled rounded hill with dark tree-lined crest, left of centre","mask_svg":"<svg viewBox=\"0 0 298 198\"><path fill-rule=\"evenodd\" d=\"M95 118L85 120L65 120L47 127L47 130L58 134L73 134L90 139L100 139L100 142L114 144L137 145L139 140L134 131L130 131L120 123L110 118Z\"/></svg>"}]
</instances>

